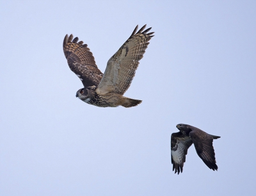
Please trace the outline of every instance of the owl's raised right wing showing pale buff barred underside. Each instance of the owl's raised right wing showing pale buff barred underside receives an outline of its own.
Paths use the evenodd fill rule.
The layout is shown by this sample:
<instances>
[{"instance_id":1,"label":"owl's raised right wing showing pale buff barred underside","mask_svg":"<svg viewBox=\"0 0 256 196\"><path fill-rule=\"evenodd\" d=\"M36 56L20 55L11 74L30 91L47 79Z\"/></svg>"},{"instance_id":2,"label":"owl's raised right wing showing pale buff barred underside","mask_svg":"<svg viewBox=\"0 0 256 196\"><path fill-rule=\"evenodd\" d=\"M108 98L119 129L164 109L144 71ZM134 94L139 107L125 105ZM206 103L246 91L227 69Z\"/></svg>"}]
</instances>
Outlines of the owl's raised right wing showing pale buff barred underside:
<instances>
[{"instance_id":1,"label":"owl's raised right wing showing pale buff barred underside","mask_svg":"<svg viewBox=\"0 0 256 196\"><path fill-rule=\"evenodd\" d=\"M103 78L96 90L99 94L115 92L124 94L131 85L139 61L148 47L149 40L153 37L148 33L151 28L143 26L137 33L138 26L120 49L109 59Z\"/></svg>"}]
</instances>

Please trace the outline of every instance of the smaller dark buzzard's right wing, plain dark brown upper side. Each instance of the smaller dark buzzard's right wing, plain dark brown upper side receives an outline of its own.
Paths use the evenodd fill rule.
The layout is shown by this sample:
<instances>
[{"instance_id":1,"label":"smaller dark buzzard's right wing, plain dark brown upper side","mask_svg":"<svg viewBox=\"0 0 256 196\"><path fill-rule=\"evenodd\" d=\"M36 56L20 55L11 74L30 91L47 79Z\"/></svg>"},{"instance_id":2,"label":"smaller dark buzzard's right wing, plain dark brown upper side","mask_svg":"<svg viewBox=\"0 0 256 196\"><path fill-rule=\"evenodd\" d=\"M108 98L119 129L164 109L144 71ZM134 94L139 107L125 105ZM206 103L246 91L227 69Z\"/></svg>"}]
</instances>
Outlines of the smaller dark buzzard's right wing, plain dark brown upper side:
<instances>
[{"instance_id":1,"label":"smaller dark buzzard's right wing, plain dark brown upper side","mask_svg":"<svg viewBox=\"0 0 256 196\"><path fill-rule=\"evenodd\" d=\"M203 160L205 165L207 165L209 169L218 170L215 160L215 153L212 146L212 135L209 135L208 133L194 127L189 135L195 145L197 155Z\"/></svg>"}]
</instances>

